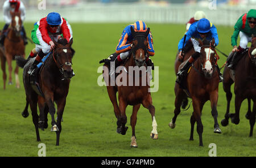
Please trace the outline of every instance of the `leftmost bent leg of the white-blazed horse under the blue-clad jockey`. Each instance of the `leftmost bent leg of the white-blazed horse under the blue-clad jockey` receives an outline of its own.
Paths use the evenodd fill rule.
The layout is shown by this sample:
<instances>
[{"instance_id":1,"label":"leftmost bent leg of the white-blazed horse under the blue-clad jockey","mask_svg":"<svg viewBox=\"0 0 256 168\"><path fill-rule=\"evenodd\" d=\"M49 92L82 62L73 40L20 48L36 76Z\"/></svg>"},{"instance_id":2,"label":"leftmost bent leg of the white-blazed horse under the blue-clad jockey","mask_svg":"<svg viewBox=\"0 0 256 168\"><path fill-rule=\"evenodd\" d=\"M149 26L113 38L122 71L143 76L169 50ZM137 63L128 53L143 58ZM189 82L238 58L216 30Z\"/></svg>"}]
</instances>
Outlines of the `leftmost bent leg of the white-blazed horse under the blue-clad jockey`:
<instances>
[{"instance_id":1,"label":"leftmost bent leg of the white-blazed horse under the blue-clad jockey","mask_svg":"<svg viewBox=\"0 0 256 168\"><path fill-rule=\"evenodd\" d=\"M177 96L175 97L175 109L174 109L174 117L172 118L172 121L169 123L170 128L175 128L176 124L176 119L177 116L180 114L180 106L182 105L183 98L185 97L185 93L179 89L177 91Z\"/></svg>"}]
</instances>

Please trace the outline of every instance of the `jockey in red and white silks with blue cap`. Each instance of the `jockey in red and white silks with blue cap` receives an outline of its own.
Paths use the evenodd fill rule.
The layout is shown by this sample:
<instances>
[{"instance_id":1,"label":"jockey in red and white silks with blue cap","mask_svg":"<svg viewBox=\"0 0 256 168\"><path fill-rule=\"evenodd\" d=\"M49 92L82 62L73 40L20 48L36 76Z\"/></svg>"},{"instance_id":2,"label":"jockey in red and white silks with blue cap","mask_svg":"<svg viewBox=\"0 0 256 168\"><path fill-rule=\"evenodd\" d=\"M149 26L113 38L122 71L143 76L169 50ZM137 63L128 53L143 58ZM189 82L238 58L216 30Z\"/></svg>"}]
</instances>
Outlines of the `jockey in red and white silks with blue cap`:
<instances>
[{"instance_id":1,"label":"jockey in red and white silks with blue cap","mask_svg":"<svg viewBox=\"0 0 256 168\"><path fill-rule=\"evenodd\" d=\"M33 38L33 41L36 44L36 50L39 52L28 70L28 74L34 79L36 77L34 73L37 67L36 65L41 62L42 58L49 53L49 51L55 48L55 44L52 40L57 41L61 34L63 34L63 38L68 42L72 38L67 21L56 12L49 13L47 17L39 20L36 25L37 41L35 38Z\"/></svg>"}]
</instances>

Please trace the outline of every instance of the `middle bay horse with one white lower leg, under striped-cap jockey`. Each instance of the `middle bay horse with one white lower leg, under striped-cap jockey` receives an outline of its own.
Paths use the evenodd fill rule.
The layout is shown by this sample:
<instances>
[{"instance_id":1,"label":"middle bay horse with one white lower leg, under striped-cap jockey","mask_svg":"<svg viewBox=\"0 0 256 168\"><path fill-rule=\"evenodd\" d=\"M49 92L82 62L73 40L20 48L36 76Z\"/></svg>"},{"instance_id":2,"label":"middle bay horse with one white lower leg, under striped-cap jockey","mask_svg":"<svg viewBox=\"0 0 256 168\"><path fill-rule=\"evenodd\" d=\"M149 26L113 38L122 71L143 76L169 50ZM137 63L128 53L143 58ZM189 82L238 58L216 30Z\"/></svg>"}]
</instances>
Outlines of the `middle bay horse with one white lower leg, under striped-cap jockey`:
<instances>
[{"instance_id":1,"label":"middle bay horse with one white lower leg, under striped-cap jockey","mask_svg":"<svg viewBox=\"0 0 256 168\"><path fill-rule=\"evenodd\" d=\"M125 81L126 84L120 85L119 83L121 82L112 83L113 81L110 79L108 73L108 64L104 64L105 68L103 71L103 76L105 82L109 84L107 84L107 90L110 101L114 107L115 117L117 118L117 133L121 133L122 135L126 134L128 127L125 126L127 122L125 110L128 105L133 106L133 113L130 118L130 125L132 128L130 147L138 147L135 136L135 125L137 123L137 113L141 104L149 110L152 117L152 131L150 133L150 137L152 139L158 139L158 132L156 130L157 123L155 119L155 107L152 105L150 86L148 85L148 81L150 81L150 75L148 75L149 73L147 71L141 71L139 72L139 75L138 73L136 74L136 71L130 71L130 67L145 67L145 61L148 57L147 36L149 32L150 28L148 28L146 32L135 32L133 27L131 27L131 35L133 36L131 55L126 59L125 63L123 63L123 66L119 66L122 68L122 72L117 76L117 79L122 78L121 82ZM135 76L138 75L137 79L139 79L139 81L135 81L136 78L134 77L134 73ZM145 85L143 85L143 79L146 80ZM132 81L132 85L130 85L129 81ZM136 82L138 82L138 85L135 84ZM117 92L119 106L117 103Z\"/></svg>"}]
</instances>

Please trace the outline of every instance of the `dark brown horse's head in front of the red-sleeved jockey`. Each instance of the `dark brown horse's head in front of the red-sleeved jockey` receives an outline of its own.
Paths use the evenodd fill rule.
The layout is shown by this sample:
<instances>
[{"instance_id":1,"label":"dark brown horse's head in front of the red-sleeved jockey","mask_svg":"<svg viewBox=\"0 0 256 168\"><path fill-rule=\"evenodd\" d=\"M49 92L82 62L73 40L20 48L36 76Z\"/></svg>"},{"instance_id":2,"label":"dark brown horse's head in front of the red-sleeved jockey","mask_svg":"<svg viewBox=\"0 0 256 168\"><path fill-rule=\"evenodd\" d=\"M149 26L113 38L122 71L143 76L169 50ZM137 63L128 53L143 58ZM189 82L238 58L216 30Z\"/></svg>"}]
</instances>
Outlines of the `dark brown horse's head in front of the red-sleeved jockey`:
<instances>
[{"instance_id":1,"label":"dark brown horse's head in front of the red-sleeved jockey","mask_svg":"<svg viewBox=\"0 0 256 168\"><path fill-rule=\"evenodd\" d=\"M73 38L69 43L64 38L61 38L58 42L53 40L53 42L56 45L56 49L53 51L53 59L61 74L64 75L64 79L71 79L73 77L72 58L75 54L75 50L71 48Z\"/></svg>"}]
</instances>

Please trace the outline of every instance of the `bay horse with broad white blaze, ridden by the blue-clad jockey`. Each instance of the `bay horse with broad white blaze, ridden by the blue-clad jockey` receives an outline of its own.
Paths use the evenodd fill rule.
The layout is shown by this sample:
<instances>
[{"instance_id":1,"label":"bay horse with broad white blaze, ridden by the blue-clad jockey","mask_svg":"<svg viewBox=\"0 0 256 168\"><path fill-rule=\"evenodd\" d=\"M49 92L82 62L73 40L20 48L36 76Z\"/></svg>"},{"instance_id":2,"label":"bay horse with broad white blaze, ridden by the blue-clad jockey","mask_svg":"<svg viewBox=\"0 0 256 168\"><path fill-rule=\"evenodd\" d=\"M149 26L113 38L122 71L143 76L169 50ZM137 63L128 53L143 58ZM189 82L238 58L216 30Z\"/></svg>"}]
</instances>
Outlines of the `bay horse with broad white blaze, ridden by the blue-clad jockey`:
<instances>
[{"instance_id":1,"label":"bay horse with broad white blaze, ridden by the blue-clad jockey","mask_svg":"<svg viewBox=\"0 0 256 168\"><path fill-rule=\"evenodd\" d=\"M210 101L212 108L212 116L214 118L214 133L221 133L221 130L217 121L217 101L218 101L218 83L219 77L216 70L216 63L218 57L215 55L216 50L214 49L214 39L208 45L199 40L201 51L200 58L197 58L196 61L192 64L192 67L187 75L186 85L189 95L180 88L179 84L175 84L175 110L174 117L172 118L169 126L175 128L177 115L180 113L180 107L183 104L183 101L187 97L192 98L193 113L190 119L191 122L191 135L189 140L193 140L193 130L195 122L197 123L197 133L199 134L199 145L203 146L203 123L201 122L201 112L205 102ZM195 53L195 50L192 49L184 55L184 60L187 60L191 54ZM176 58L178 59L178 58ZM178 63L176 61L175 63ZM184 65L183 62L179 69ZM177 70L176 70L177 72Z\"/></svg>"}]
</instances>

